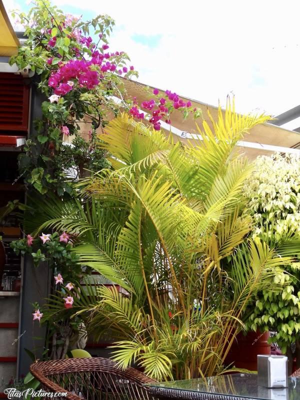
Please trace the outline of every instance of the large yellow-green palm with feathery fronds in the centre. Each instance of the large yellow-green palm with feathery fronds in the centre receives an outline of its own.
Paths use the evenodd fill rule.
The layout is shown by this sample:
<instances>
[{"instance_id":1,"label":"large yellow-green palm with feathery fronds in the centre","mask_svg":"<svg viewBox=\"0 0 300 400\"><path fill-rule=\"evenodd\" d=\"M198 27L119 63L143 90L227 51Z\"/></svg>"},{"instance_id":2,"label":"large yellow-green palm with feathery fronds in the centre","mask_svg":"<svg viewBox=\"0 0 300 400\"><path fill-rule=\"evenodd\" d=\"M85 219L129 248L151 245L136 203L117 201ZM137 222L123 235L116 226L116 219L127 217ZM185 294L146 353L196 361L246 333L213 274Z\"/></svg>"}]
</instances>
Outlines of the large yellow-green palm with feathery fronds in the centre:
<instances>
[{"instance_id":1,"label":"large yellow-green palm with feathery fronds in the centre","mask_svg":"<svg viewBox=\"0 0 300 400\"><path fill-rule=\"evenodd\" d=\"M241 188L252 166L233 148L267 119L228 100L212 130L204 121L200 140L182 145L122 114L101 136L114 169L81 181L78 200L44 203L52 217L39 229L76 232L80 262L127 291L99 286L74 301L94 333L121 333L121 366L158 380L222 370L242 311L282 263L258 239L237 250L251 229Z\"/></svg>"}]
</instances>

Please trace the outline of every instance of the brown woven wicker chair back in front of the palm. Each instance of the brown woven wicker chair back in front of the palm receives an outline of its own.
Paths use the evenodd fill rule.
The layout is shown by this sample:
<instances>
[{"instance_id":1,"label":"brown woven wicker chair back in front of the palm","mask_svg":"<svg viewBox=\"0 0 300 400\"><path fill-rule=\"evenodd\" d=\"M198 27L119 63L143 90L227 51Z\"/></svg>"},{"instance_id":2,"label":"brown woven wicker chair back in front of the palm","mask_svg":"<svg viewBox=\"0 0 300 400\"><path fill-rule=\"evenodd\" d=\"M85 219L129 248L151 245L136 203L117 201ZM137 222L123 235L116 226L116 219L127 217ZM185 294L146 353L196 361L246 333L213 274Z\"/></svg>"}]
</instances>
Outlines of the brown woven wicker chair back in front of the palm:
<instances>
[{"instance_id":1,"label":"brown woven wicker chair back in front of the palm","mask_svg":"<svg viewBox=\"0 0 300 400\"><path fill-rule=\"evenodd\" d=\"M142 372L120 369L108 358L68 358L30 365L30 372L47 392L66 393L70 400L152 400L145 383L155 382Z\"/></svg>"}]
</instances>

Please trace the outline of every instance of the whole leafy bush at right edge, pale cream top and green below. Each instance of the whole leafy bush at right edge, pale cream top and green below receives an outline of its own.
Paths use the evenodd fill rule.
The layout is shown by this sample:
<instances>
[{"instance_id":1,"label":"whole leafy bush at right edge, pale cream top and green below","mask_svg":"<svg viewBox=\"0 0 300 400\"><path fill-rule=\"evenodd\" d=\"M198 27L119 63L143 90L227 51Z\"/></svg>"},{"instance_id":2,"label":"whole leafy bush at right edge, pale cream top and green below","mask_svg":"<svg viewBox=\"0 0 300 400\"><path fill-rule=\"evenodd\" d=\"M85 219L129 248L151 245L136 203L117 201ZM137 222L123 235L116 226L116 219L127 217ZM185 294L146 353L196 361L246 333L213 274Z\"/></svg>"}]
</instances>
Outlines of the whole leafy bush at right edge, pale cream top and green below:
<instances>
[{"instance_id":1,"label":"whole leafy bush at right edge, pale cream top and green below","mask_svg":"<svg viewBox=\"0 0 300 400\"><path fill-rule=\"evenodd\" d=\"M263 156L255 166L244 186L255 223L252 236L263 239L280 255L293 255L294 262L282 264L275 277L281 288L270 286L257 295L246 325L277 332L272 340L291 358L292 343L300 350L300 159L288 154ZM299 357L297 363L300 366Z\"/></svg>"}]
</instances>

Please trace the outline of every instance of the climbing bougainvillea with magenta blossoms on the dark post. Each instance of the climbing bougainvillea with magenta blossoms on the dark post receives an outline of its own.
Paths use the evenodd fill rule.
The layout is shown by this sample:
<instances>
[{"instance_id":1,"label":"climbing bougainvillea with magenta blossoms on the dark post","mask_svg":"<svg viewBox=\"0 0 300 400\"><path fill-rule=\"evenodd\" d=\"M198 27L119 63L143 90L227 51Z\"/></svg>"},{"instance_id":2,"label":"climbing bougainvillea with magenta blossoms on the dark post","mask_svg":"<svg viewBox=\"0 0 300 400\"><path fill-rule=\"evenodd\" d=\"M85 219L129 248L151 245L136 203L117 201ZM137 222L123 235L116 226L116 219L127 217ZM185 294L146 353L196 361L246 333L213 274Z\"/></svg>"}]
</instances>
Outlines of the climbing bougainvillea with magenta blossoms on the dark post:
<instances>
[{"instance_id":1,"label":"climbing bougainvillea with magenta blossoms on the dark post","mask_svg":"<svg viewBox=\"0 0 300 400\"><path fill-rule=\"evenodd\" d=\"M120 108L137 119L149 114L154 129L160 128L162 118L169 123L174 109L184 117L189 113L199 116L190 101L184 102L169 90L161 97L154 89L152 98L140 105L145 112L136 99L126 97L121 77L137 76L137 72L125 52L110 49L108 37L114 21L109 16L82 21L47 0L33 1L27 14L14 16L25 26L28 38L10 63L34 72L33 84L44 95L42 118L35 121L35 133L19 158L25 182L40 193L50 188L58 195L70 193L71 177L80 176L84 168L98 171L109 166L105 152L98 148L95 130L103 129ZM80 127L87 123L90 129L84 143ZM63 145L68 135L76 138L71 148Z\"/></svg>"}]
</instances>

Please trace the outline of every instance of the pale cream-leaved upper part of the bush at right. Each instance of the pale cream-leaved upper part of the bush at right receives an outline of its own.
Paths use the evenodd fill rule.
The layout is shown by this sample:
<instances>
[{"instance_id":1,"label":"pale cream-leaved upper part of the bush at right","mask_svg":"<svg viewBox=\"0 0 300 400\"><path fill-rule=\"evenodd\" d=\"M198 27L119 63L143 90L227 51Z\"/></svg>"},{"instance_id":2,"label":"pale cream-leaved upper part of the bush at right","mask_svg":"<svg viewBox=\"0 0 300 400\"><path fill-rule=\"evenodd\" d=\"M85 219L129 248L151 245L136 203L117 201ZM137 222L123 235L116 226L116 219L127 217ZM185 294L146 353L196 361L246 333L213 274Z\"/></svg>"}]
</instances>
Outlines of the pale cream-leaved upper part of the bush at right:
<instances>
[{"instance_id":1,"label":"pale cream-leaved upper part of the bush at right","mask_svg":"<svg viewBox=\"0 0 300 400\"><path fill-rule=\"evenodd\" d=\"M256 222L253 234L261 233L261 220L273 224L277 240L291 229L300 232L300 158L275 154L255 164L244 187Z\"/></svg>"}]
</instances>

